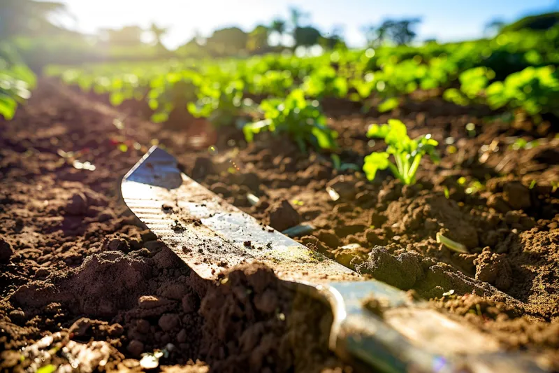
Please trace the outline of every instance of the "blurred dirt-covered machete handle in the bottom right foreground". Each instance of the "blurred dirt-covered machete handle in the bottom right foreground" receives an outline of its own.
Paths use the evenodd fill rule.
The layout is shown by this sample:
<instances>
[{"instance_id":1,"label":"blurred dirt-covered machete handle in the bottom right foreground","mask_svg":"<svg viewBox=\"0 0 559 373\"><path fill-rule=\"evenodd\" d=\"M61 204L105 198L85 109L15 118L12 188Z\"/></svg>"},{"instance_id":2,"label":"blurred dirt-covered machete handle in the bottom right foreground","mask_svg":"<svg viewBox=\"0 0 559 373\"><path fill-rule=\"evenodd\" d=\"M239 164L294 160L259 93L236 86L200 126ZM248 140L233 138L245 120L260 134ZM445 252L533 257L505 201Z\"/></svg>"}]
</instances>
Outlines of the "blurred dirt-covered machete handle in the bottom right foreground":
<instances>
[{"instance_id":1,"label":"blurred dirt-covered machete handle in the bottom right foreground","mask_svg":"<svg viewBox=\"0 0 559 373\"><path fill-rule=\"evenodd\" d=\"M306 285L305 292L326 299L332 307L331 350L360 371L373 367L390 373L549 372L537 356L503 351L493 337L386 283Z\"/></svg>"}]
</instances>

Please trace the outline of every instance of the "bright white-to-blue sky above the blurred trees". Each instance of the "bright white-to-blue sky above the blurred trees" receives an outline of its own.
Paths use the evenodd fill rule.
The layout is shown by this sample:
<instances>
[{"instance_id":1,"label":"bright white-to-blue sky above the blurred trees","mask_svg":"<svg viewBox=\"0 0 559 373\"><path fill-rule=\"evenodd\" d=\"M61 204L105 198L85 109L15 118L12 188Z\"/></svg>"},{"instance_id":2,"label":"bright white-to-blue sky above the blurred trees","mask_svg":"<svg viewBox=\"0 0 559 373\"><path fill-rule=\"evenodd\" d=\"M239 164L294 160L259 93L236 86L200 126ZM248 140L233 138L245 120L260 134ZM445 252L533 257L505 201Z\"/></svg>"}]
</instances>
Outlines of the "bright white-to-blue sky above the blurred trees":
<instances>
[{"instance_id":1,"label":"bright white-to-blue sky above the blurred trees","mask_svg":"<svg viewBox=\"0 0 559 373\"><path fill-rule=\"evenodd\" d=\"M311 23L323 32L341 26L351 46L365 41L361 27L386 17L421 17L419 40L455 41L481 36L484 25L500 17L516 20L530 13L558 10L558 0L62 0L75 15L70 26L89 34L100 28L119 28L151 22L169 27L168 48L188 41L196 30L203 36L213 29L238 26L245 31L270 24L274 17L289 19L288 8L310 13Z\"/></svg>"}]
</instances>

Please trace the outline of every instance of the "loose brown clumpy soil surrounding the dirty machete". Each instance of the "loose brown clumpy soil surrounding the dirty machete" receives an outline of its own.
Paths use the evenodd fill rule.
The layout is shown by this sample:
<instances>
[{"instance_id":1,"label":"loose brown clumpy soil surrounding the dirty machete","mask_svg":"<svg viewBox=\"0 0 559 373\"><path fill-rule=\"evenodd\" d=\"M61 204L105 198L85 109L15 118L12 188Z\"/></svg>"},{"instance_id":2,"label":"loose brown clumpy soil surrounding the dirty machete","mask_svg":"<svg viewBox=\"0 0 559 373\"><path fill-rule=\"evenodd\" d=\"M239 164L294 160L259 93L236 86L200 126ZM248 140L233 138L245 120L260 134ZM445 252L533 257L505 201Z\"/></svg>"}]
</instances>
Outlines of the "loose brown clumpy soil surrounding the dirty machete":
<instances>
[{"instance_id":1,"label":"loose brown clumpy soil surrounding the dirty machete","mask_svg":"<svg viewBox=\"0 0 559 373\"><path fill-rule=\"evenodd\" d=\"M351 371L328 351L324 304L262 265L232 268L227 281L200 279L131 215L119 183L154 143L263 223L310 224L301 243L559 367L556 120L505 122L437 98L392 115L349 105L325 107L342 162L360 169L364 155L381 150L365 132L389 118L412 137L432 134L442 162L424 160L416 185L388 171L369 182L289 139L262 134L247 146L234 130L209 136L200 120L196 129L190 118L184 129L176 120L154 125L41 80L14 120L0 122L2 370L22 372L45 358L38 351L58 346L86 351L92 369L108 371L140 370L141 355L157 349L168 372ZM539 145L515 150L515 136ZM437 232L468 253L437 244Z\"/></svg>"}]
</instances>

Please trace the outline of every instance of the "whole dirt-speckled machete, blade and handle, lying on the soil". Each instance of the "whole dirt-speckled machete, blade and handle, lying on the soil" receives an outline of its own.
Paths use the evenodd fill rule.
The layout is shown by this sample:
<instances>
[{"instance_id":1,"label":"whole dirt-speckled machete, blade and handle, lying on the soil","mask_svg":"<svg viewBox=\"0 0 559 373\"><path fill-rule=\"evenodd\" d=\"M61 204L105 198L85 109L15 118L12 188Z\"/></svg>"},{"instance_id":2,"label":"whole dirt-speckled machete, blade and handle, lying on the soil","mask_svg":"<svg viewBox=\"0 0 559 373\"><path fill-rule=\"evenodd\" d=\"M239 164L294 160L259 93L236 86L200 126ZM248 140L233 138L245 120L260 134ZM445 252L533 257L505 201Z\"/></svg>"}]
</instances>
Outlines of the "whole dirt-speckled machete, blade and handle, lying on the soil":
<instances>
[{"instance_id":1,"label":"whole dirt-speckled machete, blade and handle, lying on the soil","mask_svg":"<svg viewBox=\"0 0 559 373\"><path fill-rule=\"evenodd\" d=\"M129 209L204 279L262 262L299 291L328 302L329 346L358 370L380 372L546 372L537 356L505 351L493 337L458 323L405 291L299 244L228 204L183 174L157 146L124 176ZM382 313L365 307L382 302Z\"/></svg>"}]
</instances>

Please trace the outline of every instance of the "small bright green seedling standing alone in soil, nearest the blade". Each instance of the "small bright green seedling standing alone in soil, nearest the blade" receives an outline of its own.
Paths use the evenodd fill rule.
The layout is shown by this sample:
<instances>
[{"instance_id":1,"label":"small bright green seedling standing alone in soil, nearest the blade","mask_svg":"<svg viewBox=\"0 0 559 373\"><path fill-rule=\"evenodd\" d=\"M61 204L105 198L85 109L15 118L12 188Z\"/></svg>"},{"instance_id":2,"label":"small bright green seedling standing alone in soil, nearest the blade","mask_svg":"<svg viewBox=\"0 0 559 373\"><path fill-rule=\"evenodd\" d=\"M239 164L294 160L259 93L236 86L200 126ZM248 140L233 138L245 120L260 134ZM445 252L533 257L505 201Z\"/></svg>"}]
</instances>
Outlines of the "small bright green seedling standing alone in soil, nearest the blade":
<instances>
[{"instance_id":1,"label":"small bright green seedling standing alone in soil, nearest the blade","mask_svg":"<svg viewBox=\"0 0 559 373\"><path fill-rule=\"evenodd\" d=\"M371 153L365 157L363 171L369 180L373 180L379 169L390 169L394 176L406 185L414 184L416 173L423 155L438 162L440 157L435 150L438 142L430 134L410 139L404 123L391 119L386 125L371 125L368 137L384 139L388 148L385 152ZM391 155L394 162L391 162Z\"/></svg>"}]
</instances>

